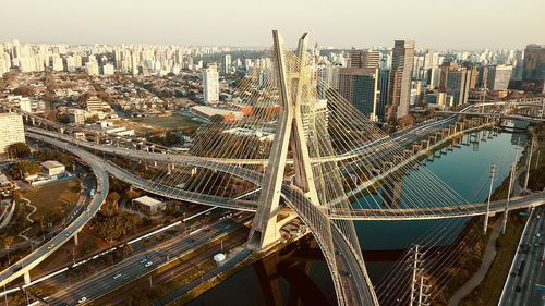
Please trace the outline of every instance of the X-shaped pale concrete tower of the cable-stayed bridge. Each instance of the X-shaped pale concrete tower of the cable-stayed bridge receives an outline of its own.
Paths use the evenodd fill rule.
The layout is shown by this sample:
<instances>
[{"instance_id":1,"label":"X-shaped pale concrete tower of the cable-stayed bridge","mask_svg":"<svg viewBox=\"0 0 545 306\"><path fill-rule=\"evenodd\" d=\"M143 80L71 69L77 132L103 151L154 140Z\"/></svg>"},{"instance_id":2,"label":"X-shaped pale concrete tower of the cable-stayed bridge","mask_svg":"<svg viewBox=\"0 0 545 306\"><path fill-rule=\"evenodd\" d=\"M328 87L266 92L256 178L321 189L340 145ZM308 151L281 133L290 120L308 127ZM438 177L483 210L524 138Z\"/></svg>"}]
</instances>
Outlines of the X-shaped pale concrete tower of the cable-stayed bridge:
<instances>
[{"instance_id":1,"label":"X-shaped pale concrete tower of the cable-stayed bridge","mask_svg":"<svg viewBox=\"0 0 545 306\"><path fill-rule=\"evenodd\" d=\"M291 72L288 71L283 41L277 30L272 32L272 39L280 112L268 166L263 179L258 208L249 237L250 242L257 242L262 248L272 244L280 237L280 229L277 228L277 215L280 208L280 195L289 146L291 146L293 152L295 185L305 193L314 205L319 205L301 111L303 87L310 85L310 79L305 77L305 69L307 69L307 33L303 34L299 40L295 51L299 58L295 63L299 66L291 68Z\"/></svg>"}]
</instances>

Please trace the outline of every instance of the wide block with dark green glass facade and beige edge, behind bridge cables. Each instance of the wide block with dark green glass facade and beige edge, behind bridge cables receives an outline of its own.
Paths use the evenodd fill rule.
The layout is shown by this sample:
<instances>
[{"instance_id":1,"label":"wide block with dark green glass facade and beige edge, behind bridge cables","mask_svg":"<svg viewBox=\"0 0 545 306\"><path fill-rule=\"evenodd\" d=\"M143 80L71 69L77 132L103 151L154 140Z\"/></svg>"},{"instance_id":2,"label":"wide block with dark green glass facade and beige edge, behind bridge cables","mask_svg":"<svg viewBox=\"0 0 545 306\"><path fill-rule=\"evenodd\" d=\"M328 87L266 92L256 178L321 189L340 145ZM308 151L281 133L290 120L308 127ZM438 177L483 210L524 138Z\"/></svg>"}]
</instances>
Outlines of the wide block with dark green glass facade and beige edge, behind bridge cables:
<instances>
[{"instance_id":1,"label":"wide block with dark green glass facade and beige edge, behind bridge cables","mask_svg":"<svg viewBox=\"0 0 545 306\"><path fill-rule=\"evenodd\" d=\"M339 70L339 94L354 107L377 119L378 69L341 68Z\"/></svg>"}]
</instances>

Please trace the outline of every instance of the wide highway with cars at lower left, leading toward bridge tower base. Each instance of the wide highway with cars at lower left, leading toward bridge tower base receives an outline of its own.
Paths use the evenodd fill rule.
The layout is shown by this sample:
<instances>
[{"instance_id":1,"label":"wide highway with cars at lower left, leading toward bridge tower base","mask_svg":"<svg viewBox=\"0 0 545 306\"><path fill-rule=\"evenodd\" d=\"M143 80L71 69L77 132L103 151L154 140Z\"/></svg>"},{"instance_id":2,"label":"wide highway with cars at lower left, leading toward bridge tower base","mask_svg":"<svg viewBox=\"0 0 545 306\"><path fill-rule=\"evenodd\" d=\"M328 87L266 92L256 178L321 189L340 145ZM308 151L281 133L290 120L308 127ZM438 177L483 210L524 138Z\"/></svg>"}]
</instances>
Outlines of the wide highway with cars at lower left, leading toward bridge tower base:
<instances>
[{"instance_id":1,"label":"wide highway with cars at lower left, leading toward bridge tower base","mask_svg":"<svg viewBox=\"0 0 545 306\"><path fill-rule=\"evenodd\" d=\"M183 256L191 250L197 249L199 246L211 241L226 240L226 234L234 232L243 227L243 223L250 218L249 215L239 218L240 215L234 215L232 218L226 218L216 223L203 227L198 230L190 232L190 234L174 238L172 242L159 246L157 248L140 253L132 256L108 269L84 279L66 289L61 290L50 297L45 299L52 305L77 305L85 304L94 298L102 296L112 290L126 284L128 282L145 276L160 266L168 264L180 256ZM243 232L240 236L235 236L237 243L243 243L247 233ZM225 247L231 247L227 243ZM195 262L203 262L211 258L216 254L216 249L211 249L211 254L203 253L191 259L191 265L175 267L169 270L169 273L177 274L193 268ZM189 264L189 262L184 262ZM84 301L85 299L85 301ZM81 302L84 301L84 302Z\"/></svg>"}]
</instances>

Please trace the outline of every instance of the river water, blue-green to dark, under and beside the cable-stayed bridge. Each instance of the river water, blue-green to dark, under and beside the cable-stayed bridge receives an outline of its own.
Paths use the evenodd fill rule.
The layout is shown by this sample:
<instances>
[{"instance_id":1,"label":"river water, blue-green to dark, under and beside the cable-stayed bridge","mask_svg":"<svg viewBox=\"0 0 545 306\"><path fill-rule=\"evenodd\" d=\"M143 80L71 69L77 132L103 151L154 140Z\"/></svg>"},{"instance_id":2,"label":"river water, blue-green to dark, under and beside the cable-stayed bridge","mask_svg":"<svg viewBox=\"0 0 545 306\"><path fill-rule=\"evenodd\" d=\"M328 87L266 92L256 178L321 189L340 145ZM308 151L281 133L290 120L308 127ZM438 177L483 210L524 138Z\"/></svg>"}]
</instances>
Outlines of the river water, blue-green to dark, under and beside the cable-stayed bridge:
<instances>
[{"instance_id":1,"label":"river water, blue-green to dark, under and beside the cable-stayed bridge","mask_svg":"<svg viewBox=\"0 0 545 306\"><path fill-rule=\"evenodd\" d=\"M487 197L491 163L496 162L498 166L496 187L509 173L509 167L514 157L514 146L519 139L524 146L525 134L500 133L492 137L491 133L481 132L465 135L452 148L445 148L443 152L437 152L422 163L426 163L437 178L468 201L484 201ZM385 206L399 205L403 188L410 185L407 182L414 180L411 176L417 174L417 171L414 169L403 180L391 181L383 186L385 192L393 195L390 201L384 203ZM450 227L451 235L444 237L445 241L441 243L443 245L450 244L463 230L467 220L467 218L459 218L443 221L354 222L372 281L376 282L387 273L392 265L389 261L398 258L398 254L410 247L411 243L424 233L439 227ZM336 304L329 270L319 250L313 249L311 237L303 246L293 245L289 249L245 268L189 305Z\"/></svg>"}]
</instances>

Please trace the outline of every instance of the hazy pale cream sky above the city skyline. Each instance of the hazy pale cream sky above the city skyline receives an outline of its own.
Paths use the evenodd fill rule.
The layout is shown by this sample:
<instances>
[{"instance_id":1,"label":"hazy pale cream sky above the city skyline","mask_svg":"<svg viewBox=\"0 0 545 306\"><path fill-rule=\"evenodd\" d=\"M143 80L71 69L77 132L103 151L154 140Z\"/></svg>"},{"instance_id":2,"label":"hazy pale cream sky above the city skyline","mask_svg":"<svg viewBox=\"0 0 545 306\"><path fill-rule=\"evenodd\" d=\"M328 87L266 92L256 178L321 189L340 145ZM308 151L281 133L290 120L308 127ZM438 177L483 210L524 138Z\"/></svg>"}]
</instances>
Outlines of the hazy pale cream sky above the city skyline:
<instances>
[{"instance_id":1,"label":"hazy pale cream sky above the city skyline","mask_svg":"<svg viewBox=\"0 0 545 306\"><path fill-rule=\"evenodd\" d=\"M1 0L0 41L524 48L545 44L545 0Z\"/></svg>"}]
</instances>

